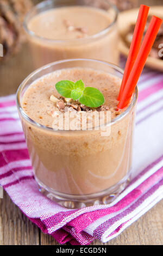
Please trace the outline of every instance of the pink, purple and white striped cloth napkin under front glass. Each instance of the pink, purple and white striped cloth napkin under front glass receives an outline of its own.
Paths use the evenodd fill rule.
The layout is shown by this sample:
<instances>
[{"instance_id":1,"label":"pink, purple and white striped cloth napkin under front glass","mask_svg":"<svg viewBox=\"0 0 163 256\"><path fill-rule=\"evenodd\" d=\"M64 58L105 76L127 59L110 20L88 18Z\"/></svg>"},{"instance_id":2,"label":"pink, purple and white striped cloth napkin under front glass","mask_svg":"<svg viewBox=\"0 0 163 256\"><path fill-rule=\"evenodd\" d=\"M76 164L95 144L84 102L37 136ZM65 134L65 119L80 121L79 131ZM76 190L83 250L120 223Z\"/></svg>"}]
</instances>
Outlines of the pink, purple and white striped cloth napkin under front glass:
<instances>
[{"instance_id":1,"label":"pink, purple and white striped cloth napkin under front glass","mask_svg":"<svg viewBox=\"0 0 163 256\"><path fill-rule=\"evenodd\" d=\"M0 98L0 184L21 211L59 243L107 242L163 198L163 74L139 81L133 168L129 186L110 205L66 209L42 196L34 180L15 95Z\"/></svg>"}]
</instances>

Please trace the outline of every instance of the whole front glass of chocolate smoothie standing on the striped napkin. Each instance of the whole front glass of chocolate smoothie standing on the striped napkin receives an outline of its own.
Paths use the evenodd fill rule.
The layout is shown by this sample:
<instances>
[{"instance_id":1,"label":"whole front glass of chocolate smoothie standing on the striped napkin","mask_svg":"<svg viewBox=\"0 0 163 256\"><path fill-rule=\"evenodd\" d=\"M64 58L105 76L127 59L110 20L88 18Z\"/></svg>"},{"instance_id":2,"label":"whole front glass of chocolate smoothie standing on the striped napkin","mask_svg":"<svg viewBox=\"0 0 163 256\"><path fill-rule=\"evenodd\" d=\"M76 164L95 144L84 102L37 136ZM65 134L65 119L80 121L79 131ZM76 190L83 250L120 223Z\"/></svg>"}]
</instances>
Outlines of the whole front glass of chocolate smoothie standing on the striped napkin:
<instances>
[{"instance_id":1,"label":"whole front glass of chocolate smoothie standing on the striped napkin","mask_svg":"<svg viewBox=\"0 0 163 256\"><path fill-rule=\"evenodd\" d=\"M65 59L37 69L18 88L17 108L35 180L55 202L68 208L106 204L128 184L137 87L129 105L117 109L122 76L122 69L107 62ZM82 80L85 87L98 89L104 104L90 108L61 97L55 84L62 80ZM79 125L67 125L67 113ZM91 119L91 127L92 114L101 114L102 123Z\"/></svg>"}]
</instances>

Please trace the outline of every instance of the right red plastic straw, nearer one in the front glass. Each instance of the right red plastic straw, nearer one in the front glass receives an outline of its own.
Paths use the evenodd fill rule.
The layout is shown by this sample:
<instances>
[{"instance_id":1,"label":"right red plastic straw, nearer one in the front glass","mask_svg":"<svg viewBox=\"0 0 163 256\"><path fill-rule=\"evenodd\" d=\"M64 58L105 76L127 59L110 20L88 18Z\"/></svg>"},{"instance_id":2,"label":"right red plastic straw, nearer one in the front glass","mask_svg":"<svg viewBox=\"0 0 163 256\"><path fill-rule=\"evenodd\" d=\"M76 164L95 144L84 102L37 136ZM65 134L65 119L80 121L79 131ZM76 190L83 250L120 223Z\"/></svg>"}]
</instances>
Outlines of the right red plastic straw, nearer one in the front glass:
<instances>
[{"instance_id":1,"label":"right red plastic straw, nearer one in the front glass","mask_svg":"<svg viewBox=\"0 0 163 256\"><path fill-rule=\"evenodd\" d=\"M151 48L153 46L154 40L156 38L156 34L159 31L161 23L162 23L162 20L160 18L156 16L152 16L146 35L142 41L140 51L133 65L133 69L130 72L126 86L124 87L124 90L122 92L120 102L118 103L118 108L124 108L128 105L131 99L131 96L134 93L134 89L136 87L137 81L139 80L143 66L146 63L148 54L151 51Z\"/></svg>"}]
</instances>

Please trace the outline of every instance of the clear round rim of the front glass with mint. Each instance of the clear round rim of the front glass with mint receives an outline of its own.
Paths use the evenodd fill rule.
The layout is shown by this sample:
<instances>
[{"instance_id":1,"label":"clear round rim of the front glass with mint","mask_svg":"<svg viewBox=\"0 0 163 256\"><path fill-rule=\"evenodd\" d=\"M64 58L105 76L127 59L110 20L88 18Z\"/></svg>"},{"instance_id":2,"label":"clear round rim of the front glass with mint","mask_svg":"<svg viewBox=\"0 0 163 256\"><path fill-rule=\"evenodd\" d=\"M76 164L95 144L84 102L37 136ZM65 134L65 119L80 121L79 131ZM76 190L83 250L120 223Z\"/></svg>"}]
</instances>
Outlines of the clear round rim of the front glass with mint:
<instances>
[{"instance_id":1,"label":"clear round rim of the front glass with mint","mask_svg":"<svg viewBox=\"0 0 163 256\"><path fill-rule=\"evenodd\" d=\"M66 62L73 62L73 61L91 61L91 62L98 62L98 63L106 64L106 65L111 66L111 68L114 68L116 71L120 72L121 74L123 74L123 69L121 69L117 65L112 64L110 62L97 60L97 59L85 59L85 58L62 59L62 60L58 60L56 62L49 63L45 66L41 66L41 68L36 69L35 71L33 71L31 74L29 74L22 81L22 83L20 84L20 86L18 87L17 92L16 92L16 106L17 106L17 109L18 109L18 113L20 113L22 118L26 119L26 121L28 121L28 123L30 123L30 124L32 124L36 127L39 127L39 129L48 130L48 131L51 131L51 132L89 132L89 131L92 132L93 131L93 130L89 130L89 129L87 129L87 130L54 130L52 127L41 125L41 124L37 123L36 121L34 121L33 119L29 118L28 115L26 114L26 112L24 112L24 110L22 108L22 105L21 105L21 101L20 101L21 90L23 89L24 85L28 82L28 80L31 77L33 77L35 74L38 74L41 70L46 70L48 68L51 68L51 66L53 66L53 65L66 63ZM52 71L52 72L55 72L55 71ZM41 78L41 76L37 79L40 79L40 78ZM116 118L112 119L109 123L106 123L105 126L113 125L113 124L117 123L117 121L126 117L126 115L129 113L130 109L135 106L136 101L137 101L137 96L138 96L138 89L137 89L137 86L136 86L133 98L132 98L129 106L121 114L117 115Z\"/></svg>"}]
</instances>

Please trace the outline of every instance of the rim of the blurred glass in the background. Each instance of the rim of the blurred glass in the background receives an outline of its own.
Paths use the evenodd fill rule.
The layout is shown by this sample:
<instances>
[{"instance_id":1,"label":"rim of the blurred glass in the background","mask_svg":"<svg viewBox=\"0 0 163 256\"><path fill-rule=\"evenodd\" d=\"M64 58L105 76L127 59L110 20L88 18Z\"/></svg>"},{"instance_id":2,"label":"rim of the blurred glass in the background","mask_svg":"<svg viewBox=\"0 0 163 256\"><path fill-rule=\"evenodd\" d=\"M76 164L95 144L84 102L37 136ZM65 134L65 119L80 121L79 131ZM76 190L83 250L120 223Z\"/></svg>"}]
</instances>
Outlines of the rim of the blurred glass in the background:
<instances>
[{"instance_id":1,"label":"rim of the blurred glass in the background","mask_svg":"<svg viewBox=\"0 0 163 256\"><path fill-rule=\"evenodd\" d=\"M105 1L105 0L103 0ZM94 34L94 35L90 35L90 36L87 36L87 38L75 38L75 39L66 39L66 40L57 40L57 39L48 39L48 38L44 38L43 36L39 36L39 35L36 35L33 31L30 31L30 29L28 29L28 19L29 19L29 16L30 14L32 13L32 11L34 10L39 10L39 9L42 9L43 7L46 7L50 4L53 4L54 2L52 0L46 0L46 1L43 1L39 4L36 4L32 9L30 9L28 11L28 13L25 15L24 17L24 21L23 21L23 28L24 28L24 31L26 31L27 34L29 34L30 36L32 36L33 38L36 38L37 40L43 40L43 41L46 41L46 42L51 42L51 43L64 43L64 42L84 42L84 41L87 41L87 40L91 40L91 39L98 39L100 36L106 34L107 32L109 32L110 28L112 26L114 26L114 24L116 23L117 21L117 17L118 17L118 9L116 7L116 5L114 4L111 4L111 3L108 3L110 5L110 7L112 9L114 9L115 11L115 18L114 20L109 24L108 27L106 27L105 29L103 29L102 31ZM65 7L68 6L68 5L64 5ZM72 5L72 6L82 6L82 5ZM83 5L84 6L84 5ZM89 5L85 5L85 6L89 6ZM100 8L99 8L100 9ZM42 11L43 12L43 11Z\"/></svg>"}]
</instances>

